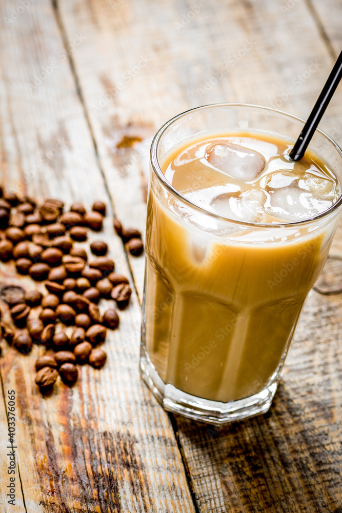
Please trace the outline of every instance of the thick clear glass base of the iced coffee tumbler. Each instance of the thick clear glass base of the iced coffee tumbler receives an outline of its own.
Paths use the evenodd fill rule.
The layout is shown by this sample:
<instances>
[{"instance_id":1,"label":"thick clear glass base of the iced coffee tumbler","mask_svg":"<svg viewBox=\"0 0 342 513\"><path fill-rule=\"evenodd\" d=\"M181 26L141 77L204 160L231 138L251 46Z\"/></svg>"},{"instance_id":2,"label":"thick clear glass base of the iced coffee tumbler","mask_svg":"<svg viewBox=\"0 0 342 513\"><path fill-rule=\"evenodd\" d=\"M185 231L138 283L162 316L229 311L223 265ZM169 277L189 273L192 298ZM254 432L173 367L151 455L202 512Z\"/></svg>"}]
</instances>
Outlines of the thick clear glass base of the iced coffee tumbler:
<instances>
[{"instance_id":1,"label":"thick clear glass base of the iced coffee tumbler","mask_svg":"<svg viewBox=\"0 0 342 513\"><path fill-rule=\"evenodd\" d=\"M166 384L155 370L151 360L142 347L140 354L140 374L154 397L168 411L179 413L189 419L208 424L222 425L236 420L254 417L266 413L271 406L279 382L278 368L266 388L254 396L222 403L210 401L179 390L173 385Z\"/></svg>"}]
</instances>

